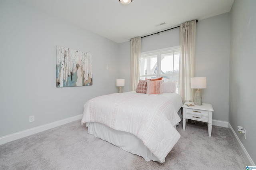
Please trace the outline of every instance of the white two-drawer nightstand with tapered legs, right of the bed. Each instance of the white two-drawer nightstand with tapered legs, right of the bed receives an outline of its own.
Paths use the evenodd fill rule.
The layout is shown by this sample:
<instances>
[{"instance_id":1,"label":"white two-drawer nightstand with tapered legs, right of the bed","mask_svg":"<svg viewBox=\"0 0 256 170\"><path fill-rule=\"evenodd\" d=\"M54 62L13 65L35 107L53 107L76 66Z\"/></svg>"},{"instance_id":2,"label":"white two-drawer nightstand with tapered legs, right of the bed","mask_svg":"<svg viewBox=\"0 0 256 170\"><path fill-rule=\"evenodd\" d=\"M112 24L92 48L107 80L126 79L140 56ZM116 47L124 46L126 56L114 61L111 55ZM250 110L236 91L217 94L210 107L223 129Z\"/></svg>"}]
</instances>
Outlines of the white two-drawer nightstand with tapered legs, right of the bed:
<instances>
[{"instance_id":1,"label":"white two-drawer nightstand with tapered legs, right of the bed","mask_svg":"<svg viewBox=\"0 0 256 170\"><path fill-rule=\"evenodd\" d=\"M192 104L194 106L188 107L186 104ZM183 130L186 127L186 119L208 123L208 134L212 135L212 109L211 104L203 103L202 105L195 105L194 102L186 102L182 106L182 118L183 118Z\"/></svg>"}]
</instances>

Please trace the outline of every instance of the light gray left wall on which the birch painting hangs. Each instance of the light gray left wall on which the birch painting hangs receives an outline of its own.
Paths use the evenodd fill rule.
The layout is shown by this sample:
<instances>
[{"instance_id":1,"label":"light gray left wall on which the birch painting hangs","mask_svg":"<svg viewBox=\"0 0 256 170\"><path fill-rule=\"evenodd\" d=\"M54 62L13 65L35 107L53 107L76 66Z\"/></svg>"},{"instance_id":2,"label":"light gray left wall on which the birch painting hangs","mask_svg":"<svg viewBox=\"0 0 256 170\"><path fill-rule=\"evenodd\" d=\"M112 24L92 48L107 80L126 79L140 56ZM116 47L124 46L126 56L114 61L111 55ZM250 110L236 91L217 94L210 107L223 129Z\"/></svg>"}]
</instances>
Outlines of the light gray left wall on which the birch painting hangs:
<instances>
[{"instance_id":1,"label":"light gray left wall on which the birch painting hangs","mask_svg":"<svg viewBox=\"0 0 256 170\"><path fill-rule=\"evenodd\" d=\"M0 23L0 136L80 115L88 99L117 91L117 43L20 0L0 1ZM56 45L92 53L92 86L56 88Z\"/></svg>"}]
</instances>

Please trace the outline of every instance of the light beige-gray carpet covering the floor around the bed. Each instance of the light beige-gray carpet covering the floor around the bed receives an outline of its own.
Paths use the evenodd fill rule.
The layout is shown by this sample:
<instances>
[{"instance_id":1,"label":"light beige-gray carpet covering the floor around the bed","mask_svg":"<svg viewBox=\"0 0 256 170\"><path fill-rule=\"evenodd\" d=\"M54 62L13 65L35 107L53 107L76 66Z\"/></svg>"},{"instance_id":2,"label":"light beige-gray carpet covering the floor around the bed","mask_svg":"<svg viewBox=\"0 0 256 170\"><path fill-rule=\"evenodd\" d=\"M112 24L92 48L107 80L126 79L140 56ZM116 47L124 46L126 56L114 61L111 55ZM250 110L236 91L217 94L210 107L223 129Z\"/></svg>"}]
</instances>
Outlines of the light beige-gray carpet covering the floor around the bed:
<instances>
[{"instance_id":1,"label":"light beige-gray carpet covering the floor around the bed","mask_svg":"<svg viewBox=\"0 0 256 170\"><path fill-rule=\"evenodd\" d=\"M181 138L166 162L146 162L87 133L75 121L0 145L0 170L243 170L246 162L230 129L205 123L177 126Z\"/></svg>"}]
</instances>

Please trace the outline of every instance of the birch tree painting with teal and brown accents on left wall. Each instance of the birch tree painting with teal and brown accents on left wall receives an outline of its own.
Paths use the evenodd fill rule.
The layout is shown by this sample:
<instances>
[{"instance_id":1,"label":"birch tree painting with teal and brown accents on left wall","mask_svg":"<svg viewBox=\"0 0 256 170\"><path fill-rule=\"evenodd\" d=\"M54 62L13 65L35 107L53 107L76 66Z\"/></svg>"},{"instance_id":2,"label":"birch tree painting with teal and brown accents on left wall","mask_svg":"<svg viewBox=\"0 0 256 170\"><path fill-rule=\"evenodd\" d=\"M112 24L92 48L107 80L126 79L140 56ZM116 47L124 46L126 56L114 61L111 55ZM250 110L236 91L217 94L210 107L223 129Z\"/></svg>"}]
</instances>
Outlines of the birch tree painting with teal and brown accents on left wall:
<instances>
[{"instance_id":1,"label":"birch tree painting with teal and brown accents on left wall","mask_svg":"<svg viewBox=\"0 0 256 170\"><path fill-rule=\"evenodd\" d=\"M56 46L56 86L92 85L92 54Z\"/></svg>"}]
</instances>

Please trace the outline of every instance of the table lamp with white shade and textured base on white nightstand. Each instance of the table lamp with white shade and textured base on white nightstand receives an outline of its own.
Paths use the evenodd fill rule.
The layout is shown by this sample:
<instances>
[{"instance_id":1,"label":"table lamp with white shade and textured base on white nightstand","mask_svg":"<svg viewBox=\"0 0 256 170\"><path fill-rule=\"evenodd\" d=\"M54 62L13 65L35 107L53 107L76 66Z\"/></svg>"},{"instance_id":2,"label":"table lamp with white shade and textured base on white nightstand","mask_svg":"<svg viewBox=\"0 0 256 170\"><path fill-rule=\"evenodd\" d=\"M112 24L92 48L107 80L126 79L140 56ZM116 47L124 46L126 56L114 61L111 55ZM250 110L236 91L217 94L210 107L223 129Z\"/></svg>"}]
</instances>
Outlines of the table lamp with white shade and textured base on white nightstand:
<instances>
[{"instance_id":1,"label":"table lamp with white shade and textured base on white nightstand","mask_svg":"<svg viewBox=\"0 0 256 170\"><path fill-rule=\"evenodd\" d=\"M200 89L206 88L206 77L191 77L191 88L197 89L194 97L195 105L202 105L202 95Z\"/></svg>"}]
</instances>

